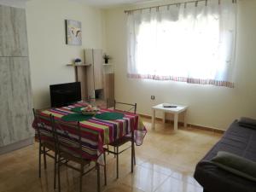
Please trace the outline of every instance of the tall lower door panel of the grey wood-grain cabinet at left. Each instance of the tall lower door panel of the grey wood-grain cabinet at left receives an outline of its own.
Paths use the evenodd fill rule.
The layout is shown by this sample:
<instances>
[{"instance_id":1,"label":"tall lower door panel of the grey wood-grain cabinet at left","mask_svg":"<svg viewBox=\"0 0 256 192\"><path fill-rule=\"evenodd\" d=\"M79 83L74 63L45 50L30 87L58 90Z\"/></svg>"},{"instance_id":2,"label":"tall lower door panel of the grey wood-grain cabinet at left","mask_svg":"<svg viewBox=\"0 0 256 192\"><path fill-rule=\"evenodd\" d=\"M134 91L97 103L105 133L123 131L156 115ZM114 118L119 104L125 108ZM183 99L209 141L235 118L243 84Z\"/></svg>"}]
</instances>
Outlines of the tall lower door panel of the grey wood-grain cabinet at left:
<instances>
[{"instance_id":1,"label":"tall lower door panel of the grey wood-grain cabinet at left","mask_svg":"<svg viewBox=\"0 0 256 192\"><path fill-rule=\"evenodd\" d=\"M0 147L32 137L32 92L26 57L0 57Z\"/></svg>"}]
</instances>

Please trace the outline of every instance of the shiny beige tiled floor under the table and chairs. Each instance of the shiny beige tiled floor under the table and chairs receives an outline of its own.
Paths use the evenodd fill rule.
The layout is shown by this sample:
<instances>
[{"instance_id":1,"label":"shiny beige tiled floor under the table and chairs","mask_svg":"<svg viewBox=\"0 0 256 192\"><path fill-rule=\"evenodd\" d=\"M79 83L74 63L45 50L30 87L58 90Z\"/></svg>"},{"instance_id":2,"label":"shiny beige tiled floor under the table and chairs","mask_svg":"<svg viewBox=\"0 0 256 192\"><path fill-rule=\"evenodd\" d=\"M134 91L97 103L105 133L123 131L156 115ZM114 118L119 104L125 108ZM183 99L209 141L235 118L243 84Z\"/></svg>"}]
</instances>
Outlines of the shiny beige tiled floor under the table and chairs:
<instances>
[{"instance_id":1,"label":"shiny beige tiled floor under the table and chairs","mask_svg":"<svg viewBox=\"0 0 256 192\"><path fill-rule=\"evenodd\" d=\"M143 146L136 148L137 166L131 174L131 150L121 154L119 179L115 179L115 159L107 155L108 186L105 192L201 192L193 178L196 163L218 142L221 134L192 128L174 133L170 124L144 119L148 133ZM103 177L102 177L103 179ZM83 191L96 191L96 172L84 176ZM102 180L103 183L103 180ZM38 144L0 156L0 192L49 192L53 189L53 160L38 178ZM62 167L61 191L79 191L79 174Z\"/></svg>"}]
</instances>

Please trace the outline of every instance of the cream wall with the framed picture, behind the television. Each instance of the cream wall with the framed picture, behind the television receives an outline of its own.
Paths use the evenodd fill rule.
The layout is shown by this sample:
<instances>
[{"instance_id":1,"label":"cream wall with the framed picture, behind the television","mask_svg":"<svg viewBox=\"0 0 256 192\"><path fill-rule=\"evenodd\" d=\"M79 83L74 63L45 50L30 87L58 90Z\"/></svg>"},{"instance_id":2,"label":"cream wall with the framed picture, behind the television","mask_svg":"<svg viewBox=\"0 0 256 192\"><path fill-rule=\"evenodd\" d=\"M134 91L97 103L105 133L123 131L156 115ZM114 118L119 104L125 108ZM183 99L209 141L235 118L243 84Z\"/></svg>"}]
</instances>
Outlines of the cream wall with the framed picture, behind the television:
<instances>
[{"instance_id":1,"label":"cream wall with the framed picture, behind the television","mask_svg":"<svg viewBox=\"0 0 256 192\"><path fill-rule=\"evenodd\" d=\"M67 45L64 20L82 22L82 46ZM34 108L49 106L49 84L75 81L75 58L84 60L85 48L102 49L100 9L67 0L31 0L26 3L26 24Z\"/></svg>"}]
</instances>

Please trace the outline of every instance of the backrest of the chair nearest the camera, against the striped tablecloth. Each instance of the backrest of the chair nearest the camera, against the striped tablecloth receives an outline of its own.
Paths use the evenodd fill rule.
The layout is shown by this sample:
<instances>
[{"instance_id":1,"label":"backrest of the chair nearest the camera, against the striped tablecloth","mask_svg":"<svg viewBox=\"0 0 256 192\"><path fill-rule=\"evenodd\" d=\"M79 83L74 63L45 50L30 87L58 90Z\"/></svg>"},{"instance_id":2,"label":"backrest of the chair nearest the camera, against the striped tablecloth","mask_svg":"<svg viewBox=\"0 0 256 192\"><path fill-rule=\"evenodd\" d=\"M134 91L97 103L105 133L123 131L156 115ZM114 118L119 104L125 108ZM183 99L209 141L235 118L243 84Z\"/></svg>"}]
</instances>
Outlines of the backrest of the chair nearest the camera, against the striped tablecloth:
<instances>
[{"instance_id":1,"label":"backrest of the chair nearest the camera, against the striped tablecloth","mask_svg":"<svg viewBox=\"0 0 256 192\"><path fill-rule=\"evenodd\" d=\"M52 116L58 153L82 158L81 128L79 122L71 123Z\"/></svg>"}]
</instances>

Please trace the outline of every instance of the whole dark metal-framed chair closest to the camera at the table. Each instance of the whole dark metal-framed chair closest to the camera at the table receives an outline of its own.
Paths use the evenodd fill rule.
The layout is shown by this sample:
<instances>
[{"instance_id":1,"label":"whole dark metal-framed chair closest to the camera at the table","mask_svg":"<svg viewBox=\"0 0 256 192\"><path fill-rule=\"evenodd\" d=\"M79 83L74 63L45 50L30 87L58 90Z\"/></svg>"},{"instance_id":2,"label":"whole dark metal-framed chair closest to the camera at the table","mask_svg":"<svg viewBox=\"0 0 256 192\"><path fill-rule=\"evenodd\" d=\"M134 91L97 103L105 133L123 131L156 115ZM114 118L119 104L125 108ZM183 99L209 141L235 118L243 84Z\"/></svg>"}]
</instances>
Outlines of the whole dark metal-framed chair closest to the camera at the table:
<instances>
[{"instance_id":1,"label":"whole dark metal-framed chair closest to the camera at the table","mask_svg":"<svg viewBox=\"0 0 256 192\"><path fill-rule=\"evenodd\" d=\"M97 170L97 191L100 191L100 166L96 163L96 166L89 168L90 160L83 157L83 150L82 150L82 141L81 141L81 127L79 122L76 123L67 123L62 120L55 119L54 116L52 117L52 123L55 131L55 138L56 138L56 146L58 151L58 188L59 192L61 192L61 177L60 177L60 168L62 165L65 165L73 170L80 172L80 183L79 183L79 191L82 192L82 178L85 174L89 173L92 170ZM70 137L70 134L75 134L77 137ZM65 163L62 162L61 159L66 160ZM106 157L104 153L104 161L106 162ZM68 162L74 162L79 165L75 167ZM88 170L84 171L84 168L87 166ZM107 177L106 177L106 163L104 166L104 179L105 185L107 184Z\"/></svg>"}]
</instances>

